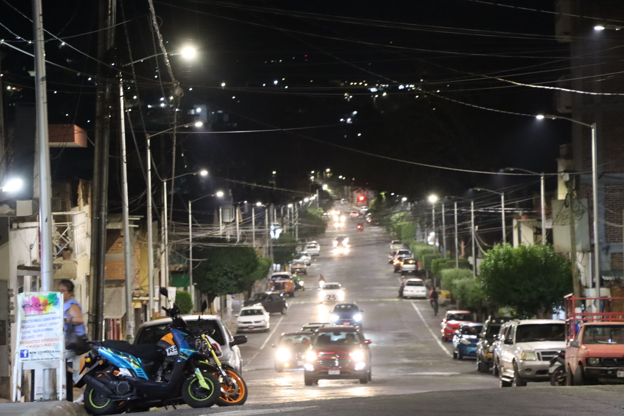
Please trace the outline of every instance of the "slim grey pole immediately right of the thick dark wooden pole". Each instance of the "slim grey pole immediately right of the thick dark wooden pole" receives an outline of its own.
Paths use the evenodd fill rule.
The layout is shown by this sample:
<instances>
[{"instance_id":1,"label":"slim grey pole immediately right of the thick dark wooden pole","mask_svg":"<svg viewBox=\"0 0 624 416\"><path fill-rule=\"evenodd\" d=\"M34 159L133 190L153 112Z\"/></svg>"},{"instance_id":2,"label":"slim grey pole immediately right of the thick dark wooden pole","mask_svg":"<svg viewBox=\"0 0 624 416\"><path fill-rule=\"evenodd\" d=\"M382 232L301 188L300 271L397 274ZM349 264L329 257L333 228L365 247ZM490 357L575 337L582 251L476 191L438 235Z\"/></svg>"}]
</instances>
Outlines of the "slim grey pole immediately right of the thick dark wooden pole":
<instances>
[{"instance_id":1,"label":"slim grey pole immediately right of the thick dark wooden pole","mask_svg":"<svg viewBox=\"0 0 624 416\"><path fill-rule=\"evenodd\" d=\"M119 80L119 138L121 140L121 178L122 178L122 220L124 221L124 278L125 278L125 339L134 341L134 309L132 308L132 292L134 291L134 246L130 238L130 218L128 212L128 158L125 149L125 114L124 85Z\"/></svg>"}]
</instances>

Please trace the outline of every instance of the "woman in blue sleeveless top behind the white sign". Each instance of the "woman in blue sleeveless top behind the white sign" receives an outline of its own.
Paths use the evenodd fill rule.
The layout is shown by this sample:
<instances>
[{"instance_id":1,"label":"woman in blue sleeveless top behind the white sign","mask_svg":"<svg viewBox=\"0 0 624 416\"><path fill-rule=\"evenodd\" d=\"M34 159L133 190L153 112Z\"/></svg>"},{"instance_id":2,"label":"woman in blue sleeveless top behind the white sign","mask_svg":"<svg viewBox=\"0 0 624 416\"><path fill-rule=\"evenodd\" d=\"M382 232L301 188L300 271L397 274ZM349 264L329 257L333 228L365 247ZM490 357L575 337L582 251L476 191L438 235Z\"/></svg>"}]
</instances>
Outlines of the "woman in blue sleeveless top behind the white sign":
<instances>
[{"instance_id":1,"label":"woman in blue sleeveless top behind the white sign","mask_svg":"<svg viewBox=\"0 0 624 416\"><path fill-rule=\"evenodd\" d=\"M74 297L74 283L69 279L59 281L58 291L63 295L63 311L65 318L65 342L67 365L67 393L68 402L74 401L74 382L80 378L80 356L84 354L87 341L87 330L84 327L82 307ZM71 365L69 364L71 362ZM81 395L82 398L82 395ZM80 401L77 400L77 401Z\"/></svg>"}]
</instances>

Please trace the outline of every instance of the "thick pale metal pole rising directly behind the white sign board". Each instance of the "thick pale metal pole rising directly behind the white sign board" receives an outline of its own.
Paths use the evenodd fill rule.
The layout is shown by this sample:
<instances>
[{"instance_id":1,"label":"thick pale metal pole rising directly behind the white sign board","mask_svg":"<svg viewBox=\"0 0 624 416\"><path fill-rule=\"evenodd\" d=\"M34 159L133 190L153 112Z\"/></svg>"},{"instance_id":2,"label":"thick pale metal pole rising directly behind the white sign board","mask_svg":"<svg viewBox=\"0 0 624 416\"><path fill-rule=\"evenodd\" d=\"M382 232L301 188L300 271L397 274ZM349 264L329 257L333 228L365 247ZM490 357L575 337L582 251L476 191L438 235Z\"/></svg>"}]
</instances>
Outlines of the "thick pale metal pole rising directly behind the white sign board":
<instances>
[{"instance_id":1,"label":"thick pale metal pole rising directly behind the white sign board","mask_svg":"<svg viewBox=\"0 0 624 416\"><path fill-rule=\"evenodd\" d=\"M37 109L37 150L39 151L39 238L41 250L41 290L54 290L52 265L52 184L50 145L47 125L46 66L44 64L43 12L41 0L32 0L33 40L35 42L35 94ZM2 105L2 103L0 103ZM59 369L60 370L60 369ZM43 399L52 400L52 369L43 370ZM59 400L61 397L58 398Z\"/></svg>"}]
</instances>

